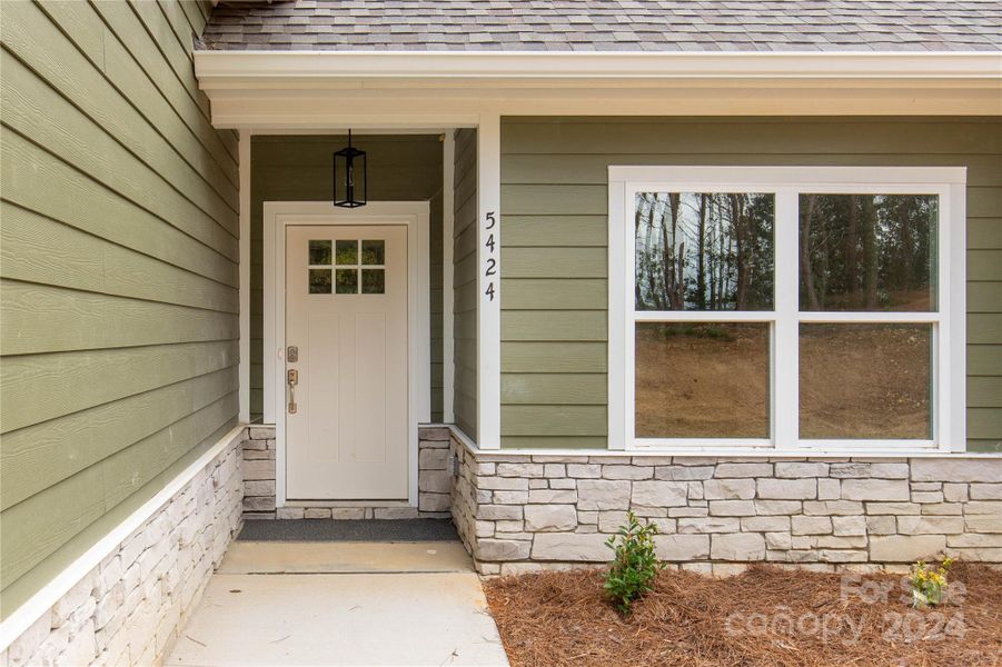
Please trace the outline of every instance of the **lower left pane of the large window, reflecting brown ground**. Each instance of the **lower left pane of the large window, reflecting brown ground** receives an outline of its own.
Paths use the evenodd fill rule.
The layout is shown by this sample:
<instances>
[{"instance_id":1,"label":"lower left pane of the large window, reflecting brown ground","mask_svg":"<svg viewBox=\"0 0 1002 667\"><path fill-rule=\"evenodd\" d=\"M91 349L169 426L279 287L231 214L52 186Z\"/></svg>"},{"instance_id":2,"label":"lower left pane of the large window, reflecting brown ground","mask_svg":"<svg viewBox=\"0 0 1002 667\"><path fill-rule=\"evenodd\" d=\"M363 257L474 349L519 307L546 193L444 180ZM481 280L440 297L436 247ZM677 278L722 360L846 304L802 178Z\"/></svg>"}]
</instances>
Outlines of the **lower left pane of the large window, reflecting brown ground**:
<instances>
[{"instance_id":1,"label":"lower left pane of the large window, reflecting brown ground","mask_svg":"<svg viewBox=\"0 0 1002 667\"><path fill-rule=\"evenodd\" d=\"M636 325L638 438L767 438L766 323Z\"/></svg>"}]
</instances>

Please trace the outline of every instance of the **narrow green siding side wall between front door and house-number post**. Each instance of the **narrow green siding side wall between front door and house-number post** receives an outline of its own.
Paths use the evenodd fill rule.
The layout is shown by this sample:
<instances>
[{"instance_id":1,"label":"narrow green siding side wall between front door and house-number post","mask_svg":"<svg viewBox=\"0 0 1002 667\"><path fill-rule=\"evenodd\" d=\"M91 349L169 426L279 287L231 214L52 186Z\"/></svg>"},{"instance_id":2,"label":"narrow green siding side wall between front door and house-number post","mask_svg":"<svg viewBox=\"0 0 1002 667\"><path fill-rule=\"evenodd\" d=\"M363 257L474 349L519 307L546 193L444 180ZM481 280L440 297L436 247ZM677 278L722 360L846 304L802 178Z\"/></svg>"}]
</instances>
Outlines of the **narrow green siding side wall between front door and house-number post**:
<instances>
[{"instance_id":1,"label":"narrow green siding side wall between front door and house-number post","mask_svg":"<svg viewBox=\"0 0 1002 667\"><path fill-rule=\"evenodd\" d=\"M477 438L477 132L458 130L453 228L454 410L456 425Z\"/></svg>"}]
</instances>

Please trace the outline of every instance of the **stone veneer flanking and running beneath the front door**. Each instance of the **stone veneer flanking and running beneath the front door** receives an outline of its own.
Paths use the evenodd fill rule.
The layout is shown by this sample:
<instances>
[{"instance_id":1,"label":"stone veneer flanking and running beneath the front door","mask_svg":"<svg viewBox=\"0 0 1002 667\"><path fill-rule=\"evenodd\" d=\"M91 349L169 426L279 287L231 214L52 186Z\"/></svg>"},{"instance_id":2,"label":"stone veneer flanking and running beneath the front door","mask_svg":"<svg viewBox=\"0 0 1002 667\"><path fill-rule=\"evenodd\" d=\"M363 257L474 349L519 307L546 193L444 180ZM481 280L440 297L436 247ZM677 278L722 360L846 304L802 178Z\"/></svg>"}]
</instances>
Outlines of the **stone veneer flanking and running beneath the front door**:
<instances>
[{"instance_id":1,"label":"stone veneer flanking and running beneath the front door","mask_svg":"<svg viewBox=\"0 0 1002 667\"><path fill-rule=\"evenodd\" d=\"M449 429L418 428L418 507L275 507L275 427L255 426L244 445L245 519L414 519L449 516Z\"/></svg>"}]
</instances>

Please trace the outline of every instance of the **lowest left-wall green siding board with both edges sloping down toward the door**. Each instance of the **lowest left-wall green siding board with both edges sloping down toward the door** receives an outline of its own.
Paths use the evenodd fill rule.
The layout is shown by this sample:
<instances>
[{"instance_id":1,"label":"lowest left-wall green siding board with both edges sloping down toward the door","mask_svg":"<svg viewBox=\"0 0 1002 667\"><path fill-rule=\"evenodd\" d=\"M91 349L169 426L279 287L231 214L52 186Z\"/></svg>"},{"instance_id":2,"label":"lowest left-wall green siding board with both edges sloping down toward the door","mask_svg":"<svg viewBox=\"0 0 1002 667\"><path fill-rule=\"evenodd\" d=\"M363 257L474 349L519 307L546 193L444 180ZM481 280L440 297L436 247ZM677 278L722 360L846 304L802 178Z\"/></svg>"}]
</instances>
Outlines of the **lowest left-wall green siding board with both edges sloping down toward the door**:
<instances>
[{"instance_id":1,"label":"lowest left-wall green siding board with both edges sloping down toward the door","mask_svg":"<svg viewBox=\"0 0 1002 667\"><path fill-rule=\"evenodd\" d=\"M0 277L236 313L234 287L0 203Z\"/></svg>"}]
</instances>

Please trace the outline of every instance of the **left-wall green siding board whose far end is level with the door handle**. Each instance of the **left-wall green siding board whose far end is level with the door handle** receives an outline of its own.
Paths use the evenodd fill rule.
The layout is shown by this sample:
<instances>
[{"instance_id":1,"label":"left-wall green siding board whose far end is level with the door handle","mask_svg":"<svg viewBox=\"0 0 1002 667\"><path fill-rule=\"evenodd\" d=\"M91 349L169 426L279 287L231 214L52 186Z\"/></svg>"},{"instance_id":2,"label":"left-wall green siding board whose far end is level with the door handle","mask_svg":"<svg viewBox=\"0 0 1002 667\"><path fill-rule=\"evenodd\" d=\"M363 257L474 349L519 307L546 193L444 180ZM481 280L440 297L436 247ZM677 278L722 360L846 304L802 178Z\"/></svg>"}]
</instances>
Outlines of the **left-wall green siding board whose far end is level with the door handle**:
<instances>
[{"instance_id":1,"label":"left-wall green siding board whose far end is level with the door handle","mask_svg":"<svg viewBox=\"0 0 1002 667\"><path fill-rule=\"evenodd\" d=\"M236 371L231 366L6 434L0 506L22 502L216 402L232 392Z\"/></svg>"}]
</instances>

